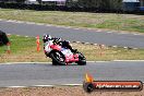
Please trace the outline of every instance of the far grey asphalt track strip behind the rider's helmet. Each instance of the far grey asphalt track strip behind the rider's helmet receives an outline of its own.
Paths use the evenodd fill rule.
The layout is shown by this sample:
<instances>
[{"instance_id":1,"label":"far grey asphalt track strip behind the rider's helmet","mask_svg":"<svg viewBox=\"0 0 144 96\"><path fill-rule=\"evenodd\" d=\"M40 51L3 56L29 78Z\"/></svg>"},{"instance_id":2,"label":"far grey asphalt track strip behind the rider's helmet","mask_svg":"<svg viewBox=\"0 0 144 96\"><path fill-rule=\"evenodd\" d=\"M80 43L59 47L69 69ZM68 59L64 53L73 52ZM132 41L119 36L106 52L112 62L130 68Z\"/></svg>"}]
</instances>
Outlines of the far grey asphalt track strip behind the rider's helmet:
<instances>
[{"instance_id":1,"label":"far grey asphalt track strip behind the rider's helmet","mask_svg":"<svg viewBox=\"0 0 144 96\"><path fill-rule=\"evenodd\" d=\"M71 41L144 48L144 35L139 34L99 32L95 29L71 28L2 20L0 21L0 29L8 34L41 36L43 34L48 33L55 37L62 37L63 39Z\"/></svg>"}]
</instances>

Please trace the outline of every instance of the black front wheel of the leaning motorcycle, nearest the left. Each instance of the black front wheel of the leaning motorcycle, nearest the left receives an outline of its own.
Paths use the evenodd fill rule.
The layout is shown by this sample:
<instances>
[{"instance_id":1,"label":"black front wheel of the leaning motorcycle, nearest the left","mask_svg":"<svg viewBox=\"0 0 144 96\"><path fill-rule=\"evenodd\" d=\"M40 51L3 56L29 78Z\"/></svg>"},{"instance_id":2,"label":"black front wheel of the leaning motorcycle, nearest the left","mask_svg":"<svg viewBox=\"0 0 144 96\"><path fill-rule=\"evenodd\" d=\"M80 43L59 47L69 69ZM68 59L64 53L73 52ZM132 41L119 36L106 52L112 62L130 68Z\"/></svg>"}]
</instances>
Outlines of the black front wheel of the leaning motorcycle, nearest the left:
<instances>
[{"instance_id":1,"label":"black front wheel of the leaning motorcycle, nearest the left","mask_svg":"<svg viewBox=\"0 0 144 96\"><path fill-rule=\"evenodd\" d=\"M65 65L64 56L60 51L55 51L50 53L52 59L52 65Z\"/></svg>"}]
</instances>

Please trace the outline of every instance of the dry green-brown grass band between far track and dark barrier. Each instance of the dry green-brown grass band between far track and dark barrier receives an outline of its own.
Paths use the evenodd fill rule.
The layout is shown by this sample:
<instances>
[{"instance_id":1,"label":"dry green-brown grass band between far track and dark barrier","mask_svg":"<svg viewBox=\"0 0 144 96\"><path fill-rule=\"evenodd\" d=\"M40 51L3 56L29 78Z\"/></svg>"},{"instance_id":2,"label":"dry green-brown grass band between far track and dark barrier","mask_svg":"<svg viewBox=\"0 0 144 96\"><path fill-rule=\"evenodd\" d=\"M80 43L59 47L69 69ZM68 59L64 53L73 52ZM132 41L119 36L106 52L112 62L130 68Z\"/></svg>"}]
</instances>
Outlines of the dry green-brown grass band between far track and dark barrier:
<instances>
[{"instance_id":1,"label":"dry green-brown grass band between far track and dark barrier","mask_svg":"<svg viewBox=\"0 0 144 96\"><path fill-rule=\"evenodd\" d=\"M144 15L0 9L0 19L144 33Z\"/></svg>"}]
</instances>

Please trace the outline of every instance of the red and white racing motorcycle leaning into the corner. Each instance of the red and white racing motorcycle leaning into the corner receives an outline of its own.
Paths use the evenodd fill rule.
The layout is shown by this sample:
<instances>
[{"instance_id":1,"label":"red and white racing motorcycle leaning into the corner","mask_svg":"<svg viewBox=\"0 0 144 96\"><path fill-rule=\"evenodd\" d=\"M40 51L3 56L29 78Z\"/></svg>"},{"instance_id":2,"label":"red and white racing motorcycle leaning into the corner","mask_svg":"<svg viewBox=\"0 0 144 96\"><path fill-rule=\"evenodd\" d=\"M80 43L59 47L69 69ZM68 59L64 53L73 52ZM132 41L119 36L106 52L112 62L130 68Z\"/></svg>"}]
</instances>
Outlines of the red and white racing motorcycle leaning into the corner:
<instances>
[{"instance_id":1,"label":"red and white racing motorcycle leaning into the corner","mask_svg":"<svg viewBox=\"0 0 144 96\"><path fill-rule=\"evenodd\" d=\"M79 51L73 53L70 49L53 44L52 40L47 41L44 47L46 56L52 59L52 65L67 65L73 62L86 65L86 58Z\"/></svg>"}]
</instances>

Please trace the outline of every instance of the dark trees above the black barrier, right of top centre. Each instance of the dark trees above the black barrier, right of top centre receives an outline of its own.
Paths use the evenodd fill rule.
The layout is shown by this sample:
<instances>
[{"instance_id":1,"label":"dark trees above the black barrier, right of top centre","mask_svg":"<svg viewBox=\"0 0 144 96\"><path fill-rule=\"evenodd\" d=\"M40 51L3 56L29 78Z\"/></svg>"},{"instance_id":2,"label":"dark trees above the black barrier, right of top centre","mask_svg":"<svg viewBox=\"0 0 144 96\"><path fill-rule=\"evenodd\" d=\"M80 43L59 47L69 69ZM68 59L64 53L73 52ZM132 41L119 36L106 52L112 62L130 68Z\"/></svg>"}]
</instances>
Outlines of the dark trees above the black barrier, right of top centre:
<instances>
[{"instance_id":1,"label":"dark trees above the black barrier, right of top centre","mask_svg":"<svg viewBox=\"0 0 144 96\"><path fill-rule=\"evenodd\" d=\"M122 0L68 0L69 5L97 8L103 10L121 10Z\"/></svg>"}]
</instances>

